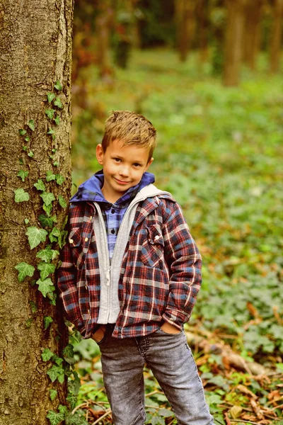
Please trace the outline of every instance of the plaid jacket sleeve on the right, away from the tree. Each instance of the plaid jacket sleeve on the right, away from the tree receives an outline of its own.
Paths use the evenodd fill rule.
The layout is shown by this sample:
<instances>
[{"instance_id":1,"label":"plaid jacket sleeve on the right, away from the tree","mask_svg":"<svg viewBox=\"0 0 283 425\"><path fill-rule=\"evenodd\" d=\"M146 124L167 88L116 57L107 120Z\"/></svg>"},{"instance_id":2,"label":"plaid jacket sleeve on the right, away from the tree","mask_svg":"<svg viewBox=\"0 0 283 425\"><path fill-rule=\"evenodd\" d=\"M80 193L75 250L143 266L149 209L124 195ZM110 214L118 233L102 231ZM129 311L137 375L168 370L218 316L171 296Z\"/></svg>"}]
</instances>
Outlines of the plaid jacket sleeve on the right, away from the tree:
<instances>
[{"instance_id":1,"label":"plaid jacket sleeve on the right, away from the tree","mask_svg":"<svg viewBox=\"0 0 283 425\"><path fill-rule=\"evenodd\" d=\"M182 329L190 319L202 283L202 258L178 203L166 203L164 256L170 270L169 296L163 320Z\"/></svg>"}]
</instances>

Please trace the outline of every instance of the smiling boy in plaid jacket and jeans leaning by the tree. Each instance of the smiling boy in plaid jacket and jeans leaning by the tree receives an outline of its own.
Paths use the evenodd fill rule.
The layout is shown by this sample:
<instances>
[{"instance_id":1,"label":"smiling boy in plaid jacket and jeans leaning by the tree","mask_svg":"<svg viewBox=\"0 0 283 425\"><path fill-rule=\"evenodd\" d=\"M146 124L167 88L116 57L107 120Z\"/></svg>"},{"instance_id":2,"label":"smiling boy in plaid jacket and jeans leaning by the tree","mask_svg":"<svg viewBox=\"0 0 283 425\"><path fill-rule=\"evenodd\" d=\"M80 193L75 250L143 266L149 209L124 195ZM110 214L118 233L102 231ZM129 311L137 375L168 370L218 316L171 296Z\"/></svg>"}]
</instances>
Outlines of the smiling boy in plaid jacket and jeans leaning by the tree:
<instances>
[{"instance_id":1,"label":"smiling boy in plaid jacket and jeans leaning by the tree","mask_svg":"<svg viewBox=\"0 0 283 425\"><path fill-rule=\"evenodd\" d=\"M71 198L58 287L69 320L100 346L115 425L144 424L146 363L178 424L213 425L183 332L201 257L178 203L148 173L156 130L115 111L96 157L103 166Z\"/></svg>"}]
</instances>

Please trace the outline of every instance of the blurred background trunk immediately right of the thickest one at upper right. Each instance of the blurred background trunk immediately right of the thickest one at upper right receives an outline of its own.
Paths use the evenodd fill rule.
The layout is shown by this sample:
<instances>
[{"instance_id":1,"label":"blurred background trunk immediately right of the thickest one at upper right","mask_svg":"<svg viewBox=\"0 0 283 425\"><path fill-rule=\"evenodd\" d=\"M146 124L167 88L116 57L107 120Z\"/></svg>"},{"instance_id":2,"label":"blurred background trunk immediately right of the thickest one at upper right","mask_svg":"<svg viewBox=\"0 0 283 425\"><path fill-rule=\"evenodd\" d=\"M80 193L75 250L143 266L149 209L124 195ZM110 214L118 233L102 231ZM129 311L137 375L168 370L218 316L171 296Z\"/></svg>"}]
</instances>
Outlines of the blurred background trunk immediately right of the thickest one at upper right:
<instances>
[{"instance_id":1,"label":"blurred background trunk immediately right of the thickest one at upper right","mask_svg":"<svg viewBox=\"0 0 283 425\"><path fill-rule=\"evenodd\" d=\"M248 0L243 37L244 61L250 69L255 69L256 58L260 50L260 18L262 0Z\"/></svg>"}]
</instances>

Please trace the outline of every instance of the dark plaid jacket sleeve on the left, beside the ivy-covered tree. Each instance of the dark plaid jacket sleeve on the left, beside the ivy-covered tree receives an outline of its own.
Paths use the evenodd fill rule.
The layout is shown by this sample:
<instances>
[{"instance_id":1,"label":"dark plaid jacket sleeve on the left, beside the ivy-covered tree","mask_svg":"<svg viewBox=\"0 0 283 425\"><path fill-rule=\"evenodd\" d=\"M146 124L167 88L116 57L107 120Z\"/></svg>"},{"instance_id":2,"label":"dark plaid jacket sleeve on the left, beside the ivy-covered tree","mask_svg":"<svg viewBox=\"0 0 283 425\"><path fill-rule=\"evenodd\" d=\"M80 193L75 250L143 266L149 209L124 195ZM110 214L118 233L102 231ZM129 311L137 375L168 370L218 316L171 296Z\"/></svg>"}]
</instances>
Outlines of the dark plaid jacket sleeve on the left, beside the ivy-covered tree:
<instances>
[{"instance_id":1,"label":"dark plaid jacket sleeve on the left, beside the ivy-covered tree","mask_svg":"<svg viewBox=\"0 0 283 425\"><path fill-rule=\"evenodd\" d=\"M59 267L57 274L59 297L62 300L64 311L67 314L67 319L74 324L76 329L78 329L83 336L86 329L84 327L81 310L79 308L79 293L76 286L77 269L72 260L68 238L61 251L60 259L62 264Z\"/></svg>"}]
</instances>

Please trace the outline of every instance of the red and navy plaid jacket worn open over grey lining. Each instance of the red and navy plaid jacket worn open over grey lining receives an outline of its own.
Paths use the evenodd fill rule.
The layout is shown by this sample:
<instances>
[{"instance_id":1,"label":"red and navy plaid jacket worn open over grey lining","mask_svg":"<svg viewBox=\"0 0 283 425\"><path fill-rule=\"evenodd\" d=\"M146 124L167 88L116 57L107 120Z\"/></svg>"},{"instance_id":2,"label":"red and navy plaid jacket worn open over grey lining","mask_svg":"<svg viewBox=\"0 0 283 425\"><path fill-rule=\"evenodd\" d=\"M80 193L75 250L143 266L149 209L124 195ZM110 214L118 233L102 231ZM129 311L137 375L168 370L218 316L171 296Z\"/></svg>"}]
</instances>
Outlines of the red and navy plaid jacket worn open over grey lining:
<instances>
[{"instance_id":1,"label":"red and navy plaid jacket worn open over grey lining","mask_svg":"<svg viewBox=\"0 0 283 425\"><path fill-rule=\"evenodd\" d=\"M58 288L70 322L89 338L95 331L100 276L93 203L72 203L69 242L62 250ZM112 336L151 334L162 321L182 329L201 283L201 257L178 203L154 196L137 208L123 256L118 295L120 314Z\"/></svg>"}]
</instances>

